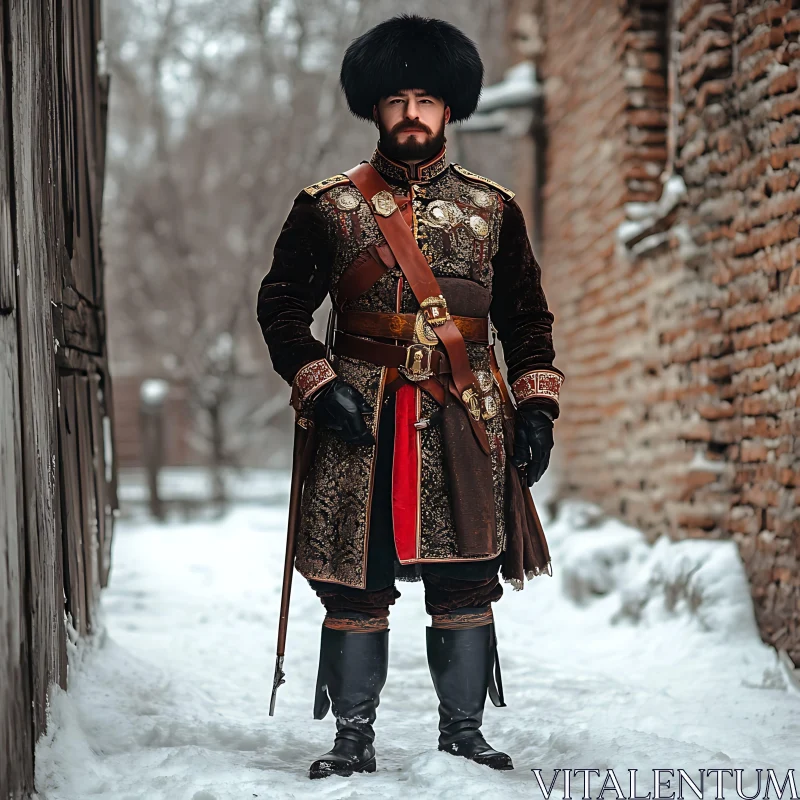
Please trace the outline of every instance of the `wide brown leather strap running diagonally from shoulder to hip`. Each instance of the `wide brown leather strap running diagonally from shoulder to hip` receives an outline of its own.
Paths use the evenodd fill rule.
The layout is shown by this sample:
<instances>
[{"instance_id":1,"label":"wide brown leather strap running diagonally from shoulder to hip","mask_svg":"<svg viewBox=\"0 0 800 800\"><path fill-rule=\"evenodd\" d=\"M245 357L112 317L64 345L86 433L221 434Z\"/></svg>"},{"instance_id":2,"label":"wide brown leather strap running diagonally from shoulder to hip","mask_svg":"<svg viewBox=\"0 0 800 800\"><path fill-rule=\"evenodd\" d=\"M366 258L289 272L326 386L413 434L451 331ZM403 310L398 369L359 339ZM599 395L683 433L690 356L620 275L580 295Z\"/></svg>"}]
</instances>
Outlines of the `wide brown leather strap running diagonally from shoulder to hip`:
<instances>
[{"instance_id":1,"label":"wide brown leather strap running diagonally from shoulder to hip","mask_svg":"<svg viewBox=\"0 0 800 800\"><path fill-rule=\"evenodd\" d=\"M443 313L441 307L435 304L426 304L426 301L434 298L444 298L444 295L436 276L431 271L428 260L419 249L414 234L400 214L391 187L381 177L380 173L367 162L362 162L357 167L347 170L345 175L352 181L353 185L369 204L375 221L384 239L386 239L386 243L394 253L397 264L408 281L414 297L425 310L428 321L435 326L436 335L439 337L439 341L444 346L450 359L453 383L457 390L453 394L467 409L473 433L481 445L481 449L488 454L489 440L486 430L480 422L480 415L476 419L470 413L471 408L474 409L474 405L470 406L468 404L470 390L473 393L472 396L475 402L479 392L477 380L470 367L464 337L453 320L450 319L449 314L444 322L440 322L438 315Z\"/></svg>"}]
</instances>

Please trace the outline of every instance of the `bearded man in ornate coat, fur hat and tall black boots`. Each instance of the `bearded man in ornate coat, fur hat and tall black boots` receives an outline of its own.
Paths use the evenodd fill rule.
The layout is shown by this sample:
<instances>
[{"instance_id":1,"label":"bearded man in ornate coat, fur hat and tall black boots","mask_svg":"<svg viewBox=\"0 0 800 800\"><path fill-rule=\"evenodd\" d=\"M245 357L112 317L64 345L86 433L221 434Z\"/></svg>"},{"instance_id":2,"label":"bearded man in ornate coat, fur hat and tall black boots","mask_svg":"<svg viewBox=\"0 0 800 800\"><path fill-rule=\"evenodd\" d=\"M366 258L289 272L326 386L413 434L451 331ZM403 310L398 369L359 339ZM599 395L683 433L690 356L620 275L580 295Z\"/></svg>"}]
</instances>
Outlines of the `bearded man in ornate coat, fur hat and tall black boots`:
<instances>
[{"instance_id":1,"label":"bearded man in ornate coat, fur hat and tall black boots","mask_svg":"<svg viewBox=\"0 0 800 800\"><path fill-rule=\"evenodd\" d=\"M445 126L472 114L482 80L473 42L441 20L356 39L341 84L378 148L299 194L258 295L273 365L316 429L295 566L326 609L314 715L332 705L337 734L312 778L375 770L396 578L424 582L439 749L513 766L480 731L487 692L505 705L491 604L501 569L515 588L550 572L528 487L564 376L513 192L447 160ZM309 328L326 295L330 348Z\"/></svg>"}]
</instances>

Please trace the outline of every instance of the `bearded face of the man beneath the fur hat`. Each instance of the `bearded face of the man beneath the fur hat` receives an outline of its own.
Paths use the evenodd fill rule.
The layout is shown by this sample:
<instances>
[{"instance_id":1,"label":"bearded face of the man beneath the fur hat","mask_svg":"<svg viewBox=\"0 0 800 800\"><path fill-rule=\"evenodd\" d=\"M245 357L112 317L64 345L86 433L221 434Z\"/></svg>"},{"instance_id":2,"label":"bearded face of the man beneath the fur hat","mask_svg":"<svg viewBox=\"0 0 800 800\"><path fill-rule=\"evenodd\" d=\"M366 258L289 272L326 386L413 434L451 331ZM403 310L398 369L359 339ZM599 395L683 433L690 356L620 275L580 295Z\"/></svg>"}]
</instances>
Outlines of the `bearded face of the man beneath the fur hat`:
<instances>
[{"instance_id":1,"label":"bearded face of the man beneath the fur hat","mask_svg":"<svg viewBox=\"0 0 800 800\"><path fill-rule=\"evenodd\" d=\"M384 155L398 161L424 161L444 145L450 108L421 89L402 89L382 97L373 109Z\"/></svg>"}]
</instances>

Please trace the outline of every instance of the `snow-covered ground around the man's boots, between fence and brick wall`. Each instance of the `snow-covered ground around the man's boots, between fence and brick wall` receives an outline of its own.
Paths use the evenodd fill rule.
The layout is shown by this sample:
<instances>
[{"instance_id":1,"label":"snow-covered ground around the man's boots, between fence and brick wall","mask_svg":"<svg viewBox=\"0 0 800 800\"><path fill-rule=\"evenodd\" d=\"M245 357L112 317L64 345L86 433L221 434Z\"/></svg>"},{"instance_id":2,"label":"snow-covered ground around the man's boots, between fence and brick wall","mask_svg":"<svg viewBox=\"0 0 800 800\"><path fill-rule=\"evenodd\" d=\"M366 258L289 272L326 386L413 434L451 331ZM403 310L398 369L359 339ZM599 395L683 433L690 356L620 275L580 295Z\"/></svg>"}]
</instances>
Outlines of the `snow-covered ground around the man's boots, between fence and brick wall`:
<instances>
[{"instance_id":1,"label":"snow-covered ground around the man's boots, between fence and brick wall","mask_svg":"<svg viewBox=\"0 0 800 800\"><path fill-rule=\"evenodd\" d=\"M800 692L758 637L734 545L648 546L572 504L546 525L553 577L506 585L495 607L508 707L487 701L484 732L516 769L437 752L429 617L421 585L399 583L378 771L309 781L334 723L312 719L323 609L297 574L287 682L268 715L285 519L284 496L216 522L118 524L103 629L71 647L69 693L55 689L37 747L42 800L542 797L532 768L546 785L556 769L600 770L593 797L610 769L624 794L640 770L645 796L656 768L695 781L700 769L743 769L753 795L756 768L782 782L800 767ZM583 794L581 775L572 792ZM603 796L617 794L609 784Z\"/></svg>"}]
</instances>

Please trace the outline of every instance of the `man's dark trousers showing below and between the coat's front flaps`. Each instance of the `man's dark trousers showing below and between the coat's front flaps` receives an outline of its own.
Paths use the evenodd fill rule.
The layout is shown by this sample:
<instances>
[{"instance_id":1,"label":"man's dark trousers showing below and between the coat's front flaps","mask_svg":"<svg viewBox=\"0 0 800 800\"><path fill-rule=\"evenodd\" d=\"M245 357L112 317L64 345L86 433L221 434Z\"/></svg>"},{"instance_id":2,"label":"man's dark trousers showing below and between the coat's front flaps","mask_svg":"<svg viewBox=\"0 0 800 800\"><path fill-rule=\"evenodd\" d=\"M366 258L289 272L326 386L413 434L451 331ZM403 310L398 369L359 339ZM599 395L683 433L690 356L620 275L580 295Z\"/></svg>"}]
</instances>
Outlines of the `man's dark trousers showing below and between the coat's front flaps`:
<instances>
[{"instance_id":1,"label":"man's dark trousers showing below and between the coat's front flaps","mask_svg":"<svg viewBox=\"0 0 800 800\"><path fill-rule=\"evenodd\" d=\"M503 587L498 573L503 554L472 562L401 565L392 526L392 456L394 395L385 402L378 428L378 455L372 487L367 541L366 588L309 579L329 617L385 620L389 606L401 597L396 580L423 582L425 610L438 617L465 610L485 609L499 600Z\"/></svg>"}]
</instances>

